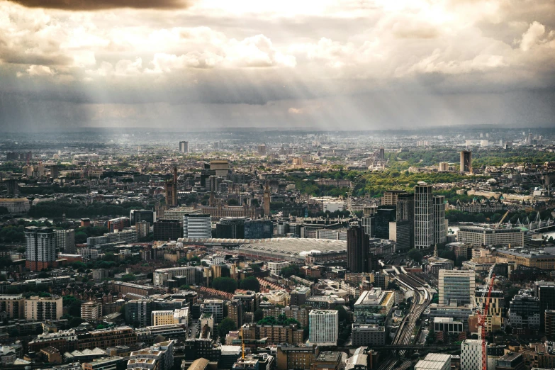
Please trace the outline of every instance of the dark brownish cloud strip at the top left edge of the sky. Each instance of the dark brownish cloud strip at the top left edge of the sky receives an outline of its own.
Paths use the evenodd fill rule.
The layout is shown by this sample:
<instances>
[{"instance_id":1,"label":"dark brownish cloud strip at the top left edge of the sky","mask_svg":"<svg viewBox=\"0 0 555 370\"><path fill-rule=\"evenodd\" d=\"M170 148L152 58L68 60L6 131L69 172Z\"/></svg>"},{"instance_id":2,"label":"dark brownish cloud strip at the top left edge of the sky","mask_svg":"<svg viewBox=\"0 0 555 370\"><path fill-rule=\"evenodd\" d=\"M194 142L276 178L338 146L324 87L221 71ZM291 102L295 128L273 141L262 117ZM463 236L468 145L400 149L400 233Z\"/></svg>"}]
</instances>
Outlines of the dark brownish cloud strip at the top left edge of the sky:
<instances>
[{"instance_id":1,"label":"dark brownish cloud strip at the top left edge of the sky","mask_svg":"<svg viewBox=\"0 0 555 370\"><path fill-rule=\"evenodd\" d=\"M12 0L28 8L65 11L98 11L103 9L184 9L189 0Z\"/></svg>"}]
</instances>

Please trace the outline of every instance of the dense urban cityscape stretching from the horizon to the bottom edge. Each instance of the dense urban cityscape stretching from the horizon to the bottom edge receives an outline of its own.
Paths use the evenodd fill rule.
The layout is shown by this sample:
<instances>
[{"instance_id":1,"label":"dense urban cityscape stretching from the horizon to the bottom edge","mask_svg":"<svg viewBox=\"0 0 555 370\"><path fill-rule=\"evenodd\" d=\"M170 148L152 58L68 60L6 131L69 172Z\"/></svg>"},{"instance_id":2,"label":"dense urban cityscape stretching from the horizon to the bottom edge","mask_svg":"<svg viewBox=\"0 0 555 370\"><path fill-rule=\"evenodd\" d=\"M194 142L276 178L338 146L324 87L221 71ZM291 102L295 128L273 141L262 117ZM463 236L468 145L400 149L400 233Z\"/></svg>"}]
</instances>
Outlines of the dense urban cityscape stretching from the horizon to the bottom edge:
<instances>
[{"instance_id":1,"label":"dense urban cityscape stretching from the horizon to the bottom edge","mask_svg":"<svg viewBox=\"0 0 555 370\"><path fill-rule=\"evenodd\" d=\"M436 134L6 133L3 367L555 367L555 130Z\"/></svg>"}]
</instances>

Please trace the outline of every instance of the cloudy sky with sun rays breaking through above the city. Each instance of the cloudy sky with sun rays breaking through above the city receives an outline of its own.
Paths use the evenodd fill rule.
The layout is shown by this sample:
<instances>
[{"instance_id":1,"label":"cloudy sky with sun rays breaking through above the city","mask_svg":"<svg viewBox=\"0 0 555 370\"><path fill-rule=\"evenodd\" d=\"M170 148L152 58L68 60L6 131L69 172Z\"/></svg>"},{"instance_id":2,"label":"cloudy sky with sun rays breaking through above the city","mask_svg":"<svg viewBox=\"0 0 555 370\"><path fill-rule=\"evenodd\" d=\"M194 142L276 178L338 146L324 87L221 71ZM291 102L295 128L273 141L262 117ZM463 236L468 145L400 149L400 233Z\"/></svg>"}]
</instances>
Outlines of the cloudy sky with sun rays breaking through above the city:
<instances>
[{"instance_id":1,"label":"cloudy sky with sun rays breaking through above the city","mask_svg":"<svg viewBox=\"0 0 555 370\"><path fill-rule=\"evenodd\" d=\"M555 127L554 0L0 0L0 132Z\"/></svg>"}]
</instances>

